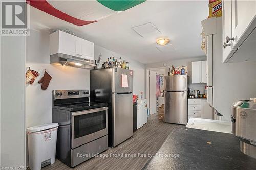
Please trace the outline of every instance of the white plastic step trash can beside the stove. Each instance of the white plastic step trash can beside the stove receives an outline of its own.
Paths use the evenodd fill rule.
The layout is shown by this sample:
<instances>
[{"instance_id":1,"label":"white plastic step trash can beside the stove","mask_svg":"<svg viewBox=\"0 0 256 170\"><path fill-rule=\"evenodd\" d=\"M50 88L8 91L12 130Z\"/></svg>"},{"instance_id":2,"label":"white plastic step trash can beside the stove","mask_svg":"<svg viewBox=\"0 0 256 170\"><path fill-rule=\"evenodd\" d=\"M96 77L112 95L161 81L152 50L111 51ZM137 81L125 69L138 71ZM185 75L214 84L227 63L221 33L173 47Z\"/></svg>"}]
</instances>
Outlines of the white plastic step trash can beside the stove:
<instances>
[{"instance_id":1,"label":"white plastic step trash can beside the stove","mask_svg":"<svg viewBox=\"0 0 256 170\"><path fill-rule=\"evenodd\" d=\"M31 170L39 170L55 162L58 126L51 123L27 128Z\"/></svg>"}]
</instances>

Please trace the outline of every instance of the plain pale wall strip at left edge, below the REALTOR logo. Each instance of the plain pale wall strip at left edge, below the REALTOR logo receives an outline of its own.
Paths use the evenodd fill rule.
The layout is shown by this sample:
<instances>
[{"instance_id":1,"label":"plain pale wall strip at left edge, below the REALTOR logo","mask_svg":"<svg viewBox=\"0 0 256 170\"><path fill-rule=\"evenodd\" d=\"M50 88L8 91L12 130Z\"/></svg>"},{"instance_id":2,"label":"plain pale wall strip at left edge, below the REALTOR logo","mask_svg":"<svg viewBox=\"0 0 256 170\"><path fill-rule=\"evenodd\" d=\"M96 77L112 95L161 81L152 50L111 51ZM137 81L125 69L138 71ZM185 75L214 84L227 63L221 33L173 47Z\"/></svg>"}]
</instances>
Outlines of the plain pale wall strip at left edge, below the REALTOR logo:
<instances>
[{"instance_id":1,"label":"plain pale wall strip at left edge, below the REALTOR logo","mask_svg":"<svg viewBox=\"0 0 256 170\"><path fill-rule=\"evenodd\" d=\"M26 165L24 39L1 37L1 167Z\"/></svg>"}]
</instances>

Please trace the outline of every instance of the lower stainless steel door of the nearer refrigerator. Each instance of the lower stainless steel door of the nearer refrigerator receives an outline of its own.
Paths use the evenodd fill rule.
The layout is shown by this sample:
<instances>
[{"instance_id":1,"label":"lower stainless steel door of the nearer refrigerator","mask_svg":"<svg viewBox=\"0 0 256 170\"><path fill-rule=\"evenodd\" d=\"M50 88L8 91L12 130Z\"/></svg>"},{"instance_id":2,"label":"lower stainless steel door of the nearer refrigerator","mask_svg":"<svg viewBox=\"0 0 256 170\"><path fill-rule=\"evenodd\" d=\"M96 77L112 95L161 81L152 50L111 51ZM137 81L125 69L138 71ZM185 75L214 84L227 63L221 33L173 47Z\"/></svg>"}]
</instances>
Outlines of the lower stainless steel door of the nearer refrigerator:
<instances>
[{"instance_id":1,"label":"lower stainless steel door of the nearer refrigerator","mask_svg":"<svg viewBox=\"0 0 256 170\"><path fill-rule=\"evenodd\" d=\"M133 94L113 94L114 147L133 136Z\"/></svg>"}]
</instances>

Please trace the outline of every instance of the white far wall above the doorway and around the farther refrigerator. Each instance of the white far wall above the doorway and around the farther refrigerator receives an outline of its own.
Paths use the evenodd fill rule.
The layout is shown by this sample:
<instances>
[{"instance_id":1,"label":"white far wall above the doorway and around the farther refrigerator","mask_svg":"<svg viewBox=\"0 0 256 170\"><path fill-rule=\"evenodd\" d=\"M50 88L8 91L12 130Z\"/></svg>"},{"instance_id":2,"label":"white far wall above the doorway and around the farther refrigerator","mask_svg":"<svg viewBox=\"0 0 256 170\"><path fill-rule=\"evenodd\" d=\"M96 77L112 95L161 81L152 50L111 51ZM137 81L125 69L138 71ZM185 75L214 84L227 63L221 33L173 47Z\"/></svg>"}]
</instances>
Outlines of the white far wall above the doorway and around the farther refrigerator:
<instances>
[{"instance_id":1,"label":"white far wall above the doorway and around the farther refrigerator","mask_svg":"<svg viewBox=\"0 0 256 170\"><path fill-rule=\"evenodd\" d=\"M193 61L203 61L203 60L206 60L206 56L146 64L146 68L163 67L163 64L166 63L167 64L167 66L166 66L166 75L168 75L168 71L169 71L168 69L172 65L174 65L174 67L187 66L187 75L190 77L190 87L193 90L199 90L201 92L201 94L204 94L204 86L206 86L207 84L192 84L192 67L191 67L191 62L193 62Z\"/></svg>"}]
</instances>

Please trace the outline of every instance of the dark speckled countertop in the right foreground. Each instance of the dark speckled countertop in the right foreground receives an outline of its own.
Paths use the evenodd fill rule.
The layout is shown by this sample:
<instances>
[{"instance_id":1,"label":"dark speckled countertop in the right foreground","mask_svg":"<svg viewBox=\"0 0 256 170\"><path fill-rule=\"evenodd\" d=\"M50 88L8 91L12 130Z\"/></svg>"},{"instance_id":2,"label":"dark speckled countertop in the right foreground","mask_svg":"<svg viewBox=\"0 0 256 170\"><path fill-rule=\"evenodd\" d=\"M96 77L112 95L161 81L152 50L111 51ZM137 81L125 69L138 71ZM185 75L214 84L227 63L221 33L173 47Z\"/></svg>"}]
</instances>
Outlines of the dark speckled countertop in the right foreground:
<instances>
[{"instance_id":1,"label":"dark speckled countertop in the right foreground","mask_svg":"<svg viewBox=\"0 0 256 170\"><path fill-rule=\"evenodd\" d=\"M207 141L212 144L207 144ZM164 153L179 154L179 157L159 156ZM256 168L256 159L240 152L240 142L233 134L184 126L174 128L157 154L143 169Z\"/></svg>"}]
</instances>

